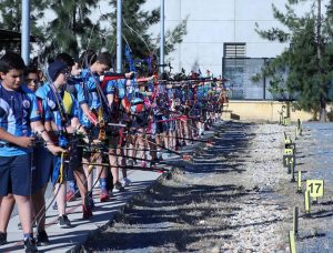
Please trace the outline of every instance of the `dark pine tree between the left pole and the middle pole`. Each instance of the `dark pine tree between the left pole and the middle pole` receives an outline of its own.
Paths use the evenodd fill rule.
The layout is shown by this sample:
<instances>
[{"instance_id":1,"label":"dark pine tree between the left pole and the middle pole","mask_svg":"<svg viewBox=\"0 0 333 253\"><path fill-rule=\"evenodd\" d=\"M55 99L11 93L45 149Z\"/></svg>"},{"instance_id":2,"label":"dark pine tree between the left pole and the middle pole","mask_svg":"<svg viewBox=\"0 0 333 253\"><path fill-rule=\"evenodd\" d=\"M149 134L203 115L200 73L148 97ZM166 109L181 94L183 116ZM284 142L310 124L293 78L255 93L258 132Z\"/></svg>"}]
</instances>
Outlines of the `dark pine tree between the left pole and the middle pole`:
<instances>
[{"instance_id":1,"label":"dark pine tree between the left pole and the middle pole","mask_svg":"<svg viewBox=\"0 0 333 253\"><path fill-rule=\"evenodd\" d=\"M44 33L49 44L44 54L67 52L78 57L81 50L99 50L103 36L99 20L93 22L89 14L99 0L49 0L56 18L47 26Z\"/></svg>"}]
</instances>

